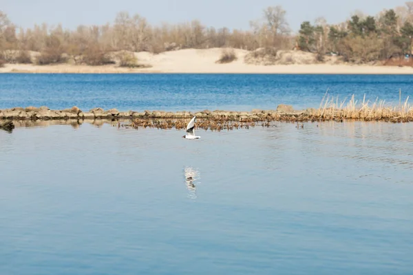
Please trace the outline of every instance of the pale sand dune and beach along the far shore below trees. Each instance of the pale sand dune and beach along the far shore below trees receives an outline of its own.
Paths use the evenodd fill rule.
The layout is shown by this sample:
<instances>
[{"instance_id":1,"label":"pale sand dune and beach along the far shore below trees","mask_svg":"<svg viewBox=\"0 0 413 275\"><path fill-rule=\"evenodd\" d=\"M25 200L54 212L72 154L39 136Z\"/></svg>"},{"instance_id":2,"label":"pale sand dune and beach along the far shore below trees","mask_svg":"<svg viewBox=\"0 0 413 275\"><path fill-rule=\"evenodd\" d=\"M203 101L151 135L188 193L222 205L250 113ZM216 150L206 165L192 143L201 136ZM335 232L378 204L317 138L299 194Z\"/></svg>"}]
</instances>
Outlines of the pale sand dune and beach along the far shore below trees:
<instances>
[{"instance_id":1,"label":"pale sand dune and beach along the far shore below trees","mask_svg":"<svg viewBox=\"0 0 413 275\"><path fill-rule=\"evenodd\" d=\"M235 50L237 60L232 63L215 63L220 58L221 49L178 50L161 54L135 53L139 63L151 65L149 68L121 68L117 65L21 65L6 64L0 72L28 73L203 73L203 74L413 74L412 67L390 67L372 65L334 64L330 59L322 64L297 64L299 58L308 58L309 53L292 52L290 65L251 65L244 62L246 50ZM298 56L297 55L301 55ZM290 58L291 59L291 58ZM297 61L298 60L298 61Z\"/></svg>"}]
</instances>

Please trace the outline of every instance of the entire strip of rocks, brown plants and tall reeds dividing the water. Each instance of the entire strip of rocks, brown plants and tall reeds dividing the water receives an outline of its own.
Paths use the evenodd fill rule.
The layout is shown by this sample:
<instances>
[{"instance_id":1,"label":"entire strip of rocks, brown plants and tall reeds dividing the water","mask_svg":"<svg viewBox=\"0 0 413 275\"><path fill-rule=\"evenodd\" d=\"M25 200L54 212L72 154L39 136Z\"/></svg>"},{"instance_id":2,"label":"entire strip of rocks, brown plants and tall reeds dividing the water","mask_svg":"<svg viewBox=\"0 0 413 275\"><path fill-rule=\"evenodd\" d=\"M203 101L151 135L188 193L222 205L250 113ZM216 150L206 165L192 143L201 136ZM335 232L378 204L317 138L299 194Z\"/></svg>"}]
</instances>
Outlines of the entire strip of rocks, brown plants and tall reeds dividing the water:
<instances>
[{"instance_id":1,"label":"entire strip of rocks, brown plants and tall reeds dividing the water","mask_svg":"<svg viewBox=\"0 0 413 275\"><path fill-rule=\"evenodd\" d=\"M166 112L166 111L127 111L119 112L116 109L103 110L94 108L83 112L77 107L65 110L50 110L47 107L27 107L0 110L0 120L131 120L129 126L156 127L170 129L175 127L183 129L189 119L196 115L197 125L207 129L237 129L255 124L269 125L269 122L308 122L335 120L363 120L385 122L412 122L413 108L408 104L408 97L396 107L388 106L383 100L375 102L361 102L354 99L348 102L339 102L330 98L328 94L321 100L318 109L306 109L295 111L290 105L279 104L276 110L254 109L245 111L199 111L199 112Z\"/></svg>"}]
</instances>

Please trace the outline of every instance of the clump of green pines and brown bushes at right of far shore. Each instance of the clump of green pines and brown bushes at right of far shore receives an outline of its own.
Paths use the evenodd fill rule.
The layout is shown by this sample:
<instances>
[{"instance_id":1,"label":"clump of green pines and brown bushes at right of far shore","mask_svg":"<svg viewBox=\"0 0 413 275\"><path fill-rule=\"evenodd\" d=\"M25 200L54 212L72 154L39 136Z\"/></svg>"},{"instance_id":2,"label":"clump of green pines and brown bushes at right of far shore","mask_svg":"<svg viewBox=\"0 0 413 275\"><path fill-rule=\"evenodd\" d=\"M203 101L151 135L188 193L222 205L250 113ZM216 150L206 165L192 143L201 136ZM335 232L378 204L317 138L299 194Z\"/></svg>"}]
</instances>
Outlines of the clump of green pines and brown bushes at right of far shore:
<instances>
[{"instance_id":1,"label":"clump of green pines and brown bushes at right of far shore","mask_svg":"<svg viewBox=\"0 0 413 275\"><path fill-rule=\"evenodd\" d=\"M324 19L301 23L297 44L301 50L342 56L344 61L385 61L412 53L413 1L375 17L355 12L346 22L328 25Z\"/></svg>"}]
</instances>

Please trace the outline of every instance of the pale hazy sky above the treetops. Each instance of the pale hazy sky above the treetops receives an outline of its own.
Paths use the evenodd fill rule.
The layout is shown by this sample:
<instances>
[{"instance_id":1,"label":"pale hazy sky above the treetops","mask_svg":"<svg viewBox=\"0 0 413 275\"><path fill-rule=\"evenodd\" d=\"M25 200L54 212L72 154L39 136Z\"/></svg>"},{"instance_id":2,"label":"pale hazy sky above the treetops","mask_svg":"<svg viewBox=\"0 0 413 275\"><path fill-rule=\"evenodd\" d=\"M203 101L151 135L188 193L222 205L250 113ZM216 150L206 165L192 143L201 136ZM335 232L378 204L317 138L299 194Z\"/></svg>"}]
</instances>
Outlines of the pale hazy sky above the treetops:
<instances>
[{"instance_id":1,"label":"pale hazy sky above the treetops","mask_svg":"<svg viewBox=\"0 0 413 275\"><path fill-rule=\"evenodd\" d=\"M116 14L139 14L152 25L182 23L198 19L215 28L248 30L249 22L260 19L262 10L282 5L293 32L302 21L324 17L328 23L340 23L355 10L375 15L383 9L404 5L404 0L0 0L0 10L23 28L35 23L74 29L78 25L113 23Z\"/></svg>"}]
</instances>

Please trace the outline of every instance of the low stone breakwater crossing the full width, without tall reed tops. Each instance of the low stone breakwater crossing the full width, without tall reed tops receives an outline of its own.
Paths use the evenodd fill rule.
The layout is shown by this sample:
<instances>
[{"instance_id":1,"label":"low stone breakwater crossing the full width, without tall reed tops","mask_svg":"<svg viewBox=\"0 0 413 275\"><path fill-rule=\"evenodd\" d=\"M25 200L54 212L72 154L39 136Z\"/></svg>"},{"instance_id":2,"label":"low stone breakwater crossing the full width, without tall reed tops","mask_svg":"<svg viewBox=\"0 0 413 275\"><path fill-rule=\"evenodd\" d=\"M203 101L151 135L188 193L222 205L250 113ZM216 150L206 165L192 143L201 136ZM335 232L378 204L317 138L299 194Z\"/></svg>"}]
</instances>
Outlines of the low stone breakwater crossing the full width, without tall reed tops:
<instances>
[{"instance_id":1,"label":"low stone breakwater crossing the full width, without tall reed tops","mask_svg":"<svg viewBox=\"0 0 413 275\"><path fill-rule=\"evenodd\" d=\"M94 108L83 111L78 107L64 110L51 110L48 107L14 107L0 110L0 120L187 120L196 115L200 120L211 122L308 122L335 120L363 120L363 121L385 121L385 122L412 122L413 109L402 108L370 108L353 107L337 109L335 107L323 107L319 109L294 110L292 106L279 104L275 110L253 109L252 111L125 111L117 109L104 110Z\"/></svg>"}]
</instances>

